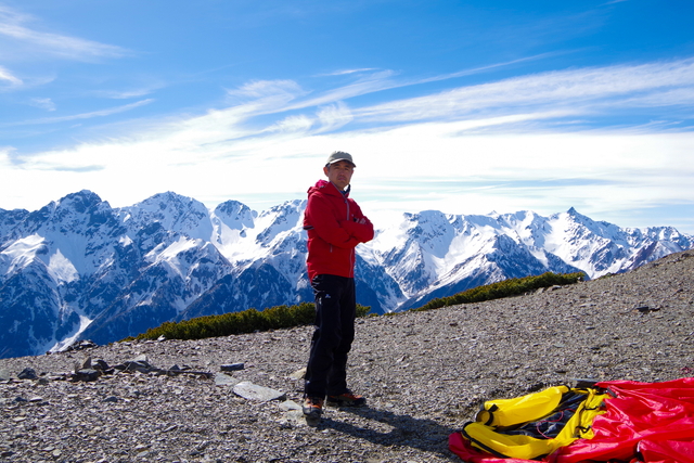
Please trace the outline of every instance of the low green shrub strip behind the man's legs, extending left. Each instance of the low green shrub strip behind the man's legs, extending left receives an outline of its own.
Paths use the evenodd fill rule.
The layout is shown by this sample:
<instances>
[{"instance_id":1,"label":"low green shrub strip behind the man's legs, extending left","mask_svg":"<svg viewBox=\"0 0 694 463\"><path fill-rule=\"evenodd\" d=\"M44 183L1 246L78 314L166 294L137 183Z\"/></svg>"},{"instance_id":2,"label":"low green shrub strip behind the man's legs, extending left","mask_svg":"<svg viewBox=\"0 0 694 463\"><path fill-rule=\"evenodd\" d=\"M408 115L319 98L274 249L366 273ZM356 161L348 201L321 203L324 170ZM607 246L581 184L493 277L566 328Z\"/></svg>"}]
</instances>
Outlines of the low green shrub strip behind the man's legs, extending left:
<instances>
[{"instance_id":1,"label":"low green shrub strip behind the man's legs, extending left","mask_svg":"<svg viewBox=\"0 0 694 463\"><path fill-rule=\"evenodd\" d=\"M370 307L357 305L357 317L365 317ZM180 322L165 322L137 337L128 339L203 339L206 337L229 336L232 334L254 333L257 331L281 330L313 323L316 306L301 303L296 306L277 306L258 311L247 309L241 312L221 316L197 317Z\"/></svg>"}]
</instances>

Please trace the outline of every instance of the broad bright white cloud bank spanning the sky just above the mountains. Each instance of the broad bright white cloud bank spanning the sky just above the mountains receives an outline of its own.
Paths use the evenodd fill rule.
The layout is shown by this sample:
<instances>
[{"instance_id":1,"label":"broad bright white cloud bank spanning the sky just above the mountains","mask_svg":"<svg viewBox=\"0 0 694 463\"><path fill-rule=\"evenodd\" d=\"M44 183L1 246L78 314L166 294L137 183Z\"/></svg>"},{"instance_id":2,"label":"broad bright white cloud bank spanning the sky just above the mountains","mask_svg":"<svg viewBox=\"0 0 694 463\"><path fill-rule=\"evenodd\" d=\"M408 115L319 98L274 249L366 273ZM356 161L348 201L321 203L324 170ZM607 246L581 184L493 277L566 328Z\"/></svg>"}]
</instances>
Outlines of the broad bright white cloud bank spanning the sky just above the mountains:
<instances>
[{"instance_id":1,"label":"broad bright white cloud bank spanning the sky just above the mountains","mask_svg":"<svg viewBox=\"0 0 694 463\"><path fill-rule=\"evenodd\" d=\"M261 209L304 197L322 177L325 155L344 150L359 166L354 195L373 211L552 214L575 206L643 226L618 219L631 209L692 204L693 132L555 123L679 105L694 89L694 60L542 73L347 105L349 95L397 83L391 75L371 77L319 95L292 80L253 81L229 91L229 107L150 125L127 139L25 155L18 164L5 151L0 165L10 180L0 197L29 197L36 189L27 185L50 176L41 183L48 201L87 188L128 205L172 190L208 206L234 198ZM124 179L131 187L124 189Z\"/></svg>"}]
</instances>

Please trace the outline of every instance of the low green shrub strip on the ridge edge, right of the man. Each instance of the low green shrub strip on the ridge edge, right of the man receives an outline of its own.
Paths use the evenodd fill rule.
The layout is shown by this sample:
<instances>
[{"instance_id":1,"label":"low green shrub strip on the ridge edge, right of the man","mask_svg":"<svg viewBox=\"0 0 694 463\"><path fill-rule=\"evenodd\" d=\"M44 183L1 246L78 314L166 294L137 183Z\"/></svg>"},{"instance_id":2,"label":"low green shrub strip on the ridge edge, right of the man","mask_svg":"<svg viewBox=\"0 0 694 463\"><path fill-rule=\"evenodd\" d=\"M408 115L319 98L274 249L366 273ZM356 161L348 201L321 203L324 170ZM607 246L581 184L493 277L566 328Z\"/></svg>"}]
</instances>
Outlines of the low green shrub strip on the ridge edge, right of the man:
<instances>
[{"instance_id":1,"label":"low green shrub strip on the ridge edge, right of the man","mask_svg":"<svg viewBox=\"0 0 694 463\"><path fill-rule=\"evenodd\" d=\"M586 278L583 272L576 273L552 273L545 272L538 276L526 276L522 279L509 279L498 283L486 284L473 287L462 293L449 297L429 300L426 305L413 309L417 311L438 309L458 304L481 303L483 300L500 299L502 297L519 296L529 291L539 290L562 284L574 284Z\"/></svg>"}]
</instances>

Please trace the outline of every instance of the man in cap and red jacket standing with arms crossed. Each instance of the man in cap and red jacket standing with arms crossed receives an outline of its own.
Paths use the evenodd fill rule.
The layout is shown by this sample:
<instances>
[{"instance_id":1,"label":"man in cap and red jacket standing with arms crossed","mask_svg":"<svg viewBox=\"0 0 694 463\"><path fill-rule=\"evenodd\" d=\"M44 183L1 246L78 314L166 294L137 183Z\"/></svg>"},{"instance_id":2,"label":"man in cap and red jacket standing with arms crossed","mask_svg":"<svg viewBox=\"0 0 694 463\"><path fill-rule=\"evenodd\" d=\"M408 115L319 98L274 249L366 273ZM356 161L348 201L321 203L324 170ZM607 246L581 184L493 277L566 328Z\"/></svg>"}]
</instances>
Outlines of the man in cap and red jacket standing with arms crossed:
<instances>
[{"instance_id":1,"label":"man in cap and red jacket standing with arms crossed","mask_svg":"<svg viewBox=\"0 0 694 463\"><path fill-rule=\"evenodd\" d=\"M355 171L351 155L332 153L323 167L327 181L308 190L304 229L308 231L308 276L316 297L304 414L318 420L329 404L363 406L367 399L347 387L347 355L355 338L355 247L373 239L373 226L349 198Z\"/></svg>"}]
</instances>

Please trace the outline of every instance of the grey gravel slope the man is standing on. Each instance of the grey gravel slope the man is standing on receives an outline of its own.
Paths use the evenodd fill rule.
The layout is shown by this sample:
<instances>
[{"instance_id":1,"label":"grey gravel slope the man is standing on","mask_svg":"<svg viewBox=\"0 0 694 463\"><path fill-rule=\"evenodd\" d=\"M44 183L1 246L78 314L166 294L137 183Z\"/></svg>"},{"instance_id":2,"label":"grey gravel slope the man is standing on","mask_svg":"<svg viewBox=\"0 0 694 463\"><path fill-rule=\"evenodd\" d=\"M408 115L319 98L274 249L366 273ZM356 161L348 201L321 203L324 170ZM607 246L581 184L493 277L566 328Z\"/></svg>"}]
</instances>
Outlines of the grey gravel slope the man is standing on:
<instances>
[{"instance_id":1,"label":"grey gravel slope the man is standing on","mask_svg":"<svg viewBox=\"0 0 694 463\"><path fill-rule=\"evenodd\" d=\"M427 312L357 321L350 385L361 409L324 411L307 426L300 402L309 326L195 342L116 343L0 360L1 462L460 462L448 436L487 399L575 378L657 382L694 370L694 253L622 275ZM89 356L110 365L210 372L116 373L60 381ZM224 374L284 393L242 398ZM39 380L17 380L33 368ZM12 377L7 380L7 376Z\"/></svg>"}]
</instances>

